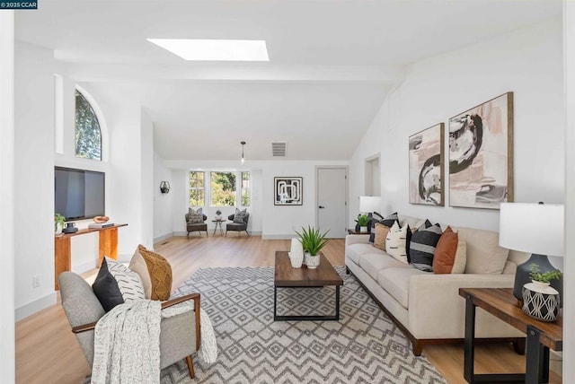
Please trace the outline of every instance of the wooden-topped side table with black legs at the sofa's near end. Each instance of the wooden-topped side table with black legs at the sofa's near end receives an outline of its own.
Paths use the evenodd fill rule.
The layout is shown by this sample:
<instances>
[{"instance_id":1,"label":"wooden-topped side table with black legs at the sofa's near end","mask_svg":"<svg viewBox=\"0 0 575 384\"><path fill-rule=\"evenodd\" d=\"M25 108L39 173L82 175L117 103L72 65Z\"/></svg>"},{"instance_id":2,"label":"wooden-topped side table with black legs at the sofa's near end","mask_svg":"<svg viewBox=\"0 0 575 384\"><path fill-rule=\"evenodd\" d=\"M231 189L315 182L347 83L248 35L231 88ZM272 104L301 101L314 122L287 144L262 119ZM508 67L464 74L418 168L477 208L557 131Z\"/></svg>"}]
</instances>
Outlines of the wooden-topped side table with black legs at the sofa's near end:
<instances>
[{"instance_id":1,"label":"wooden-topped side table with black legs at the sofa's near end","mask_svg":"<svg viewBox=\"0 0 575 384\"><path fill-rule=\"evenodd\" d=\"M464 378L467 382L535 384L549 381L549 348L553 351L562 351L563 348L562 315L555 322L544 322L529 317L517 306L517 299L513 296L511 288L460 288L459 295L465 298ZM473 373L476 307L526 333L525 374Z\"/></svg>"}]
</instances>

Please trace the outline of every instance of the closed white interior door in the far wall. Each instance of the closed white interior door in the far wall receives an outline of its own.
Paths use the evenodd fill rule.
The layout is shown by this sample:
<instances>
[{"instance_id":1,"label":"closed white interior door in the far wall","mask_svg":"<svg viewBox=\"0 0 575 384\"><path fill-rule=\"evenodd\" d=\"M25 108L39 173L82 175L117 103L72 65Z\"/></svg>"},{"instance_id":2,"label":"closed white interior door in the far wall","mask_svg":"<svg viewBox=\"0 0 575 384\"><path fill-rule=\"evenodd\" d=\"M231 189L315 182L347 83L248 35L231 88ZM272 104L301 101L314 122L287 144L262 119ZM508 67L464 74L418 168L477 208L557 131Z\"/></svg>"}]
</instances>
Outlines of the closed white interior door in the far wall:
<instances>
[{"instance_id":1,"label":"closed white interior door in the far wall","mask_svg":"<svg viewBox=\"0 0 575 384\"><path fill-rule=\"evenodd\" d=\"M317 223L328 237L344 238L347 226L348 170L317 169Z\"/></svg>"}]
</instances>

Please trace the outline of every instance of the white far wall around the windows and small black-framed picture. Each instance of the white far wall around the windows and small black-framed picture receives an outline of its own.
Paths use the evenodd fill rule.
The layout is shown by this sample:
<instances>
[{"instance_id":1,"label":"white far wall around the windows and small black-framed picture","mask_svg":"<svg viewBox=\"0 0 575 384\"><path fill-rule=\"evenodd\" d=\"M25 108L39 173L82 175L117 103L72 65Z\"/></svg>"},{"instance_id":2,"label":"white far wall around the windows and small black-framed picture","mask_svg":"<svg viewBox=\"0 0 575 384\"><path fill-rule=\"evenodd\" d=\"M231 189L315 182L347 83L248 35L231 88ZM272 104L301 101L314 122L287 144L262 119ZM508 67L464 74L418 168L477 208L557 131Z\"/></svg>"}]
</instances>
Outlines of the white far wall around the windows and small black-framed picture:
<instances>
[{"instance_id":1,"label":"white far wall around the windows and small black-framed picture","mask_svg":"<svg viewBox=\"0 0 575 384\"><path fill-rule=\"evenodd\" d=\"M294 230L315 223L315 167L318 165L347 166L347 161L247 161L239 167L238 161L164 161L164 167L173 169L176 190L173 196L173 231L185 234L183 214L188 212L188 170L249 170L252 176L252 206L248 231L261 234L263 239L288 239ZM279 206L273 204L273 178L301 176L304 178L304 204ZM173 186L174 188L174 186ZM170 191L172 194L172 191ZM208 195L207 195L208 196ZM208 225L216 212L205 208ZM234 213L234 207L222 209L223 214Z\"/></svg>"}]
</instances>

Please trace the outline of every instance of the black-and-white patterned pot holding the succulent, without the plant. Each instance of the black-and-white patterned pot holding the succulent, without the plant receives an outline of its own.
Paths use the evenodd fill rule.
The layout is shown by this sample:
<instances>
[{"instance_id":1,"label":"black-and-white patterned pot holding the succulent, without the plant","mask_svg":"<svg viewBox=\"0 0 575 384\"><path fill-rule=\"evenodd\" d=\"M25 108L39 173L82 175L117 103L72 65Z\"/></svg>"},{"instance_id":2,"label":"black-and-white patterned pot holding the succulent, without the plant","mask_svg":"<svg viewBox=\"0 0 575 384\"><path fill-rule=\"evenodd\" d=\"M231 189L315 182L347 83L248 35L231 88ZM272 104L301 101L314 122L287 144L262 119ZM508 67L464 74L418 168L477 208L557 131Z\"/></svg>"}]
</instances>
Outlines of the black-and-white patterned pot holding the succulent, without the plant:
<instances>
[{"instance_id":1,"label":"black-and-white patterned pot holding the succulent, without the plant","mask_svg":"<svg viewBox=\"0 0 575 384\"><path fill-rule=\"evenodd\" d=\"M522 310L532 318L555 321L559 316L559 292L549 283L535 282L523 286Z\"/></svg>"}]
</instances>

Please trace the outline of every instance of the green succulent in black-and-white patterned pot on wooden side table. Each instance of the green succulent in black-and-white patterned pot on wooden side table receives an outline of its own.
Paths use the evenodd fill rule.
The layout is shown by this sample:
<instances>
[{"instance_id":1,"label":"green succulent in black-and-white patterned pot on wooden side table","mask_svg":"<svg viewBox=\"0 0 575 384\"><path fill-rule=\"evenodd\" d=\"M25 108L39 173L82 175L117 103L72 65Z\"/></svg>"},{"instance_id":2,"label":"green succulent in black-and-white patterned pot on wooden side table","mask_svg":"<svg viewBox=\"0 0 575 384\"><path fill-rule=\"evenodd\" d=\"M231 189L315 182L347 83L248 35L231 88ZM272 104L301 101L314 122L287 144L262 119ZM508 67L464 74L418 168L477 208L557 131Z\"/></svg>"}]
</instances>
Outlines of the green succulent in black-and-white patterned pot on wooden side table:
<instances>
[{"instance_id":1,"label":"green succulent in black-and-white patterned pot on wooden side table","mask_svg":"<svg viewBox=\"0 0 575 384\"><path fill-rule=\"evenodd\" d=\"M533 263L530 265L532 283L523 286L523 311L532 318L543 321L555 321L559 316L560 302L559 292L552 286L552 280L562 277L558 269L547 272L539 272L539 267Z\"/></svg>"}]
</instances>

